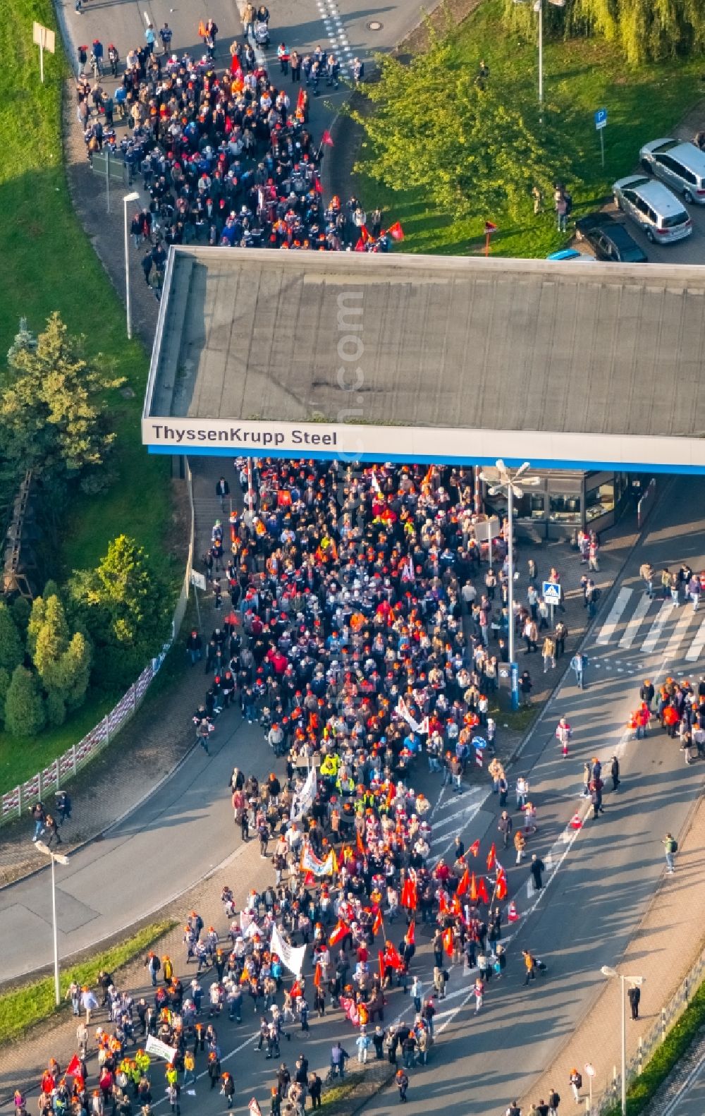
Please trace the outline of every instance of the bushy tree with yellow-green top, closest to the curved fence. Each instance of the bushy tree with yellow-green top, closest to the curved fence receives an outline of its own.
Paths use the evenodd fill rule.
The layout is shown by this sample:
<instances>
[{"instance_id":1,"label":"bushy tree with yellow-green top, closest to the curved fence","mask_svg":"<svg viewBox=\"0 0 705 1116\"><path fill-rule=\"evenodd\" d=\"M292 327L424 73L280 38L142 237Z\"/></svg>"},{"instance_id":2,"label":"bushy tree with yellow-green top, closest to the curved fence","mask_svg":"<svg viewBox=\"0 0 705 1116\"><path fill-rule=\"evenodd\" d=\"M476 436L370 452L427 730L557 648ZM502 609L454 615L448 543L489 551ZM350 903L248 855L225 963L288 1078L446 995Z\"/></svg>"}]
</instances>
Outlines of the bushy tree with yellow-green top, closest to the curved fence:
<instances>
[{"instance_id":1,"label":"bushy tree with yellow-green top, closest to the curved fence","mask_svg":"<svg viewBox=\"0 0 705 1116\"><path fill-rule=\"evenodd\" d=\"M94 645L93 677L110 689L129 685L167 632L166 598L147 555L120 535L95 569L74 575L69 593Z\"/></svg>"}]
</instances>

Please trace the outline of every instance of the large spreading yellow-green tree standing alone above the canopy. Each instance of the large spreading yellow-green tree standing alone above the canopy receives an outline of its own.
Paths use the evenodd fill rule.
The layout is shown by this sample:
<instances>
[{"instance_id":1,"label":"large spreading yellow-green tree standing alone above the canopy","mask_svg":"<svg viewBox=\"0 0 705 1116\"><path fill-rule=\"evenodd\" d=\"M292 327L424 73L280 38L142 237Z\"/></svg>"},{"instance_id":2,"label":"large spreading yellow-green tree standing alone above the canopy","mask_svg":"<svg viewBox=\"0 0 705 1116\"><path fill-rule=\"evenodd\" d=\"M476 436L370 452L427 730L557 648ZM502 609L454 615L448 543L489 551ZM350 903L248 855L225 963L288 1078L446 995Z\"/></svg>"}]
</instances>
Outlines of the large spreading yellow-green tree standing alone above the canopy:
<instances>
[{"instance_id":1,"label":"large spreading yellow-green tree standing alone above the canopy","mask_svg":"<svg viewBox=\"0 0 705 1116\"><path fill-rule=\"evenodd\" d=\"M352 116L373 155L366 173L392 190L422 189L454 217L509 210L520 218L530 212L532 186L548 192L551 179L568 172L556 124L547 158L538 106L508 97L492 80L477 83L448 39L432 35L429 50L409 65L378 61L382 78L366 86L375 112Z\"/></svg>"}]
</instances>

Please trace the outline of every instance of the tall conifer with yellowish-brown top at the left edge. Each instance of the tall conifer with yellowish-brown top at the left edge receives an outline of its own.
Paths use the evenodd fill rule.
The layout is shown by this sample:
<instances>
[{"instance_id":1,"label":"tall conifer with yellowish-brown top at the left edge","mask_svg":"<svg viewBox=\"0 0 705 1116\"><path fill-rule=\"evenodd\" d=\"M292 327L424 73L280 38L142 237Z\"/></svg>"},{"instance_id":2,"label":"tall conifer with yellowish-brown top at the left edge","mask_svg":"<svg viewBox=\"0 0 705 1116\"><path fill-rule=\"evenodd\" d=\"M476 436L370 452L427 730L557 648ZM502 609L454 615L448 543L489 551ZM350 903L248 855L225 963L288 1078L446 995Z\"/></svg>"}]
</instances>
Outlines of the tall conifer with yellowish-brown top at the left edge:
<instances>
[{"instance_id":1,"label":"tall conifer with yellowish-brown top at the left edge","mask_svg":"<svg viewBox=\"0 0 705 1116\"><path fill-rule=\"evenodd\" d=\"M0 375L0 454L6 474L28 469L52 480L100 465L115 434L106 426L103 393L119 386L103 358L89 360L84 339L52 314L37 345L16 345Z\"/></svg>"}]
</instances>

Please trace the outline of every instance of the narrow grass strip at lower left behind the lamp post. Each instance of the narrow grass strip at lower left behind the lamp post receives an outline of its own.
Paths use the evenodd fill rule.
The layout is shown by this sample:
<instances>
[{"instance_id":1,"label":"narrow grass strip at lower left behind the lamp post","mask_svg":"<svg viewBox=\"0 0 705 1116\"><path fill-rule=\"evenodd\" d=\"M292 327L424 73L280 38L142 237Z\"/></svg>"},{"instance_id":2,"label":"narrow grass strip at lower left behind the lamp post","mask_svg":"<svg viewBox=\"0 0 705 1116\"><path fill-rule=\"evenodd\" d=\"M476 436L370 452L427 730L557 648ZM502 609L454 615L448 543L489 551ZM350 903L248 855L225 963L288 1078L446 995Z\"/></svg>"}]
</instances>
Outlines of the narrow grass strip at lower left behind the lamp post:
<instances>
[{"instance_id":1,"label":"narrow grass strip at lower left behind the lamp post","mask_svg":"<svg viewBox=\"0 0 705 1116\"><path fill-rule=\"evenodd\" d=\"M81 964L65 969L60 973L59 1008L55 1002L54 975L0 994L0 1046L21 1038L36 1023L70 1012L70 1001L65 998L71 981L93 988L102 969L114 973L143 953L157 939L167 934L175 925L174 921L149 923L112 950L97 953Z\"/></svg>"}]
</instances>

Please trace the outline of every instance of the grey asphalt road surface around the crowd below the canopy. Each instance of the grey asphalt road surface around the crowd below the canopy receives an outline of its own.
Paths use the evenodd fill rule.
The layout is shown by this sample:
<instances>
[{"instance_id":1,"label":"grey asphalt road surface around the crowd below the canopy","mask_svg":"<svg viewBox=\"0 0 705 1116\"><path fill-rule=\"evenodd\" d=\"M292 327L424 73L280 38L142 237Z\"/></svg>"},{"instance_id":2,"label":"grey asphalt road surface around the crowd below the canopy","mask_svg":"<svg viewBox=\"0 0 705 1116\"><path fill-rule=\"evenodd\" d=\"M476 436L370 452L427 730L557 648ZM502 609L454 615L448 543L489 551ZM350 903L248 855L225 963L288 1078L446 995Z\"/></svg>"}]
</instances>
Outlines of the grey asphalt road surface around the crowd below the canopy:
<instances>
[{"instance_id":1,"label":"grey asphalt road surface around the crowd below the canopy","mask_svg":"<svg viewBox=\"0 0 705 1116\"><path fill-rule=\"evenodd\" d=\"M619 641L630 623L629 631L636 629L638 566L645 558L657 569L684 559L695 568L705 565L705 520L690 526L693 509L705 507L704 497L705 482L696 479L674 482L666 492L643 546L610 598L618 599L622 589L631 590L622 612L610 619L610 609L605 608L589 636L587 689L578 691L570 673L525 745L513 775L531 777L539 831L530 847L544 860L550 857L547 887L538 897L529 897L525 865L516 868L510 863L510 893L527 917L518 941L510 945L506 977L491 984L485 1006L475 1017L470 1002L472 981L452 972L453 998L442 1004L443 1032L431 1065L412 1072L412 1110L443 1105L457 1113L491 1114L502 1110L510 1095L530 1087L599 992L600 965L617 961L661 877L661 837L667 829L678 833L685 822L702 780L702 766L686 767L677 744L660 732L636 743L622 740L622 729L643 675L658 682L666 674L702 671L702 655L697 661L686 657L693 647L692 625L699 626L699 617L688 617L690 607L682 606L655 633L651 625L660 606L650 604L653 613L646 613L638 626L630 660L625 658ZM682 638L676 645L677 632ZM537 658L527 656L533 671L539 668ZM631 668L620 665L627 662ZM553 735L562 713L573 728L568 759L562 759ZM262 769L269 757L259 732L249 727L229 734L221 721L214 742L220 751L210 761L202 754L190 758L105 840L71 857L59 879L62 954L143 916L147 897L149 905L160 906L176 889L200 879L210 866L232 856L233 828L225 795L230 768L238 762L248 770ZM581 830L567 829L573 812L586 809L580 797L583 760L595 754L607 760L616 749L621 753L624 781L616 795L607 796L605 816L586 821ZM422 775L421 781L427 778ZM434 799L438 802L437 783ZM456 831L467 841L484 834L484 853L496 836L496 799L491 795L481 807L475 793L456 798L445 791L435 809L434 853L441 855ZM508 859L513 857L508 854ZM48 956L48 898L46 873L0 893L0 937L8 977L29 972ZM419 943L425 940L419 934ZM529 990L523 988L519 955L523 943L548 964L545 978ZM427 951L419 950L419 971L427 981ZM648 989L644 999L648 1010ZM408 1003L399 1001L400 997L390 1006L397 1014ZM305 1040L312 1065L326 1066L327 1048L341 1031L351 1046L351 1030L339 1017L313 1026ZM226 1051L248 1045L243 1028L224 1024L223 1036ZM293 1061L298 1052L293 1042L290 1050ZM599 1062L599 1051L586 1051L586 1058ZM271 1079L268 1064L244 1057L242 1050L231 1061L243 1098L257 1095L262 1103ZM558 1088L561 1084L556 1083ZM387 1113L392 1104L396 1106L396 1094L384 1090L370 1108ZM201 1098L200 1109L205 1113L220 1113L221 1107L218 1096Z\"/></svg>"}]
</instances>

